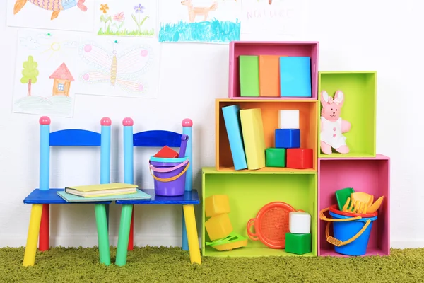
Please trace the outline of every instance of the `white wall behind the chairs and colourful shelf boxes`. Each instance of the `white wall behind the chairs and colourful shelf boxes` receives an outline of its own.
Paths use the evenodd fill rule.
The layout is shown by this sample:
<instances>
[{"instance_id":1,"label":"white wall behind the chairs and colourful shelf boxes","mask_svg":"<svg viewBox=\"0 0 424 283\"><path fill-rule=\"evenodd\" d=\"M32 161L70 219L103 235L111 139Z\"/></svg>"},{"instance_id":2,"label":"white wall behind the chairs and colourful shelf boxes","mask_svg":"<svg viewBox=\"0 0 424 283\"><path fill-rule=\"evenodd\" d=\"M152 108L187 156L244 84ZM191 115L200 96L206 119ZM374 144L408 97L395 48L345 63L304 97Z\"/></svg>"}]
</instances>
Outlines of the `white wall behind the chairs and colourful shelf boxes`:
<instances>
[{"instance_id":1,"label":"white wall behind the chairs and colourful shelf boxes","mask_svg":"<svg viewBox=\"0 0 424 283\"><path fill-rule=\"evenodd\" d=\"M424 103L424 4L414 0L305 1L309 11L299 35L242 35L242 40L319 40L320 71L377 70L377 152L391 157L391 246L424 246L424 190L419 177L424 168L419 106ZM6 1L0 2L0 19L0 246L25 246L30 205L24 205L23 198L38 185L39 117L11 112L17 30L6 27ZM180 131L180 121L191 117L194 188L200 190L201 167L214 165L214 99L227 96L228 45L177 43L164 44L162 50L158 99L77 96L73 119L52 117L51 128L97 131L100 118L111 117L114 182L123 180L120 125L124 117L134 118L136 131ZM164 114L158 116L159 111ZM146 166L153 151L136 151L139 185L153 185ZM52 187L98 182L98 167L91 166L98 157L90 149L53 149ZM69 173L74 168L78 173ZM119 212L113 204L112 245L117 243ZM53 206L51 215L53 246L96 245L92 207ZM200 207L196 215L200 219ZM136 219L136 245L180 245L180 207L136 207Z\"/></svg>"}]
</instances>

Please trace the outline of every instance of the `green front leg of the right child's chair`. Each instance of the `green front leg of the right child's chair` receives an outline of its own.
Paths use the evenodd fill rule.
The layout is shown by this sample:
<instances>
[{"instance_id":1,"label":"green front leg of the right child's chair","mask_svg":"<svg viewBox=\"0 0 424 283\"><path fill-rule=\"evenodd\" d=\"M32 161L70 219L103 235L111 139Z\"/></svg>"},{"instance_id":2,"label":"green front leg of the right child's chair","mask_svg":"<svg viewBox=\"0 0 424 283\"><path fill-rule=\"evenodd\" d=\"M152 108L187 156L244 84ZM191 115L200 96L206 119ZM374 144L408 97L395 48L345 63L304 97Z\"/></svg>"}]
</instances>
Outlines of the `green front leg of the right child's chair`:
<instances>
[{"instance_id":1,"label":"green front leg of the right child's chair","mask_svg":"<svg viewBox=\"0 0 424 283\"><path fill-rule=\"evenodd\" d=\"M122 204L121 222L119 223L117 260L115 265L122 266L126 264L126 254L128 253L129 229L131 226L131 214L133 205Z\"/></svg>"}]
</instances>

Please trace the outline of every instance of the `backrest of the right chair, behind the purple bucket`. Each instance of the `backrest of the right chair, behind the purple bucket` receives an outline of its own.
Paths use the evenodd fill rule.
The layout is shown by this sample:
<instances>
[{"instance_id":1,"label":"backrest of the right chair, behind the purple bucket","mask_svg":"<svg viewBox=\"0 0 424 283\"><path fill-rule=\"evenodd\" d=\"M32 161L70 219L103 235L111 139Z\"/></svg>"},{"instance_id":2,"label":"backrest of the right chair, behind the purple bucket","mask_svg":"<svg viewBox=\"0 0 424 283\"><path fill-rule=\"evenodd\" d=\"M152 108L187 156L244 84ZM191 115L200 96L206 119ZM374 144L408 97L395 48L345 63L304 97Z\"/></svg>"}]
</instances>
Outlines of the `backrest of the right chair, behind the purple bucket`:
<instances>
[{"instance_id":1,"label":"backrest of the right chair, behind the purple bucket","mask_svg":"<svg viewBox=\"0 0 424 283\"><path fill-rule=\"evenodd\" d=\"M190 119L182 120L182 134L165 130L149 130L137 132L134 134L134 120L127 117L122 121L124 126L124 182L134 184L134 146L146 147L179 147L181 145L181 137L187 134L187 149L185 156L188 157L190 166L186 173L185 190L192 190L193 161L192 161L192 127L193 121Z\"/></svg>"}]
</instances>

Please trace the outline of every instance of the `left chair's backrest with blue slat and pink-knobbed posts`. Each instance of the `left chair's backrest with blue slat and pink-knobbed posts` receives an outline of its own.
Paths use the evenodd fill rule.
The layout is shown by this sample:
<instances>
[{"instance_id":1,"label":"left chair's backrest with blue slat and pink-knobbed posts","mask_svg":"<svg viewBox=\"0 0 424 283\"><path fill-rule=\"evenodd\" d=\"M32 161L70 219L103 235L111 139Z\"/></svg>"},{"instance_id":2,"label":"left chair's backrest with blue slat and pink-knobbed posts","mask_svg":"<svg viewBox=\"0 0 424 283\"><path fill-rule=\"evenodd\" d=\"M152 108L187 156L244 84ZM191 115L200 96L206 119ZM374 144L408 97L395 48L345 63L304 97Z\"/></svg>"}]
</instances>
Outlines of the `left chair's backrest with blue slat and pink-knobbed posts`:
<instances>
[{"instance_id":1,"label":"left chair's backrest with blue slat and pink-knobbed posts","mask_svg":"<svg viewBox=\"0 0 424 283\"><path fill-rule=\"evenodd\" d=\"M100 183L110 183L110 118L100 120L101 132L61 129L50 132L51 120L40 118L40 190L50 188L50 146L100 146Z\"/></svg>"}]
</instances>

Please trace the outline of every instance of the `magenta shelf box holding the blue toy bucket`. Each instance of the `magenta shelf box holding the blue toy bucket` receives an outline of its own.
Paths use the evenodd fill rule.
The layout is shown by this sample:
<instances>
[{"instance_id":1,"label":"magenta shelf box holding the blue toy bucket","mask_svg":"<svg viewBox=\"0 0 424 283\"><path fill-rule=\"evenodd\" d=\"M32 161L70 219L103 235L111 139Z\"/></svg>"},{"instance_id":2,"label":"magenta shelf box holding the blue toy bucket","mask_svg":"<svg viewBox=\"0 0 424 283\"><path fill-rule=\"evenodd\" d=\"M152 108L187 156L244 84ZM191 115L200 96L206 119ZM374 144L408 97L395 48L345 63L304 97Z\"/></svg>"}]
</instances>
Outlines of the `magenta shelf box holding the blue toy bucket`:
<instances>
[{"instance_id":1,"label":"magenta shelf box holding the blue toy bucket","mask_svg":"<svg viewBox=\"0 0 424 283\"><path fill-rule=\"evenodd\" d=\"M384 196L377 220L372 224L365 255L389 255L390 158L382 154L366 158L319 158L318 174L318 213L331 204L337 204L334 193L345 187L353 187L356 192L374 195L374 200ZM334 246L326 241L325 227L326 221L319 220L318 255L346 257L336 253ZM332 229L330 229L330 235L333 235Z\"/></svg>"}]
</instances>

